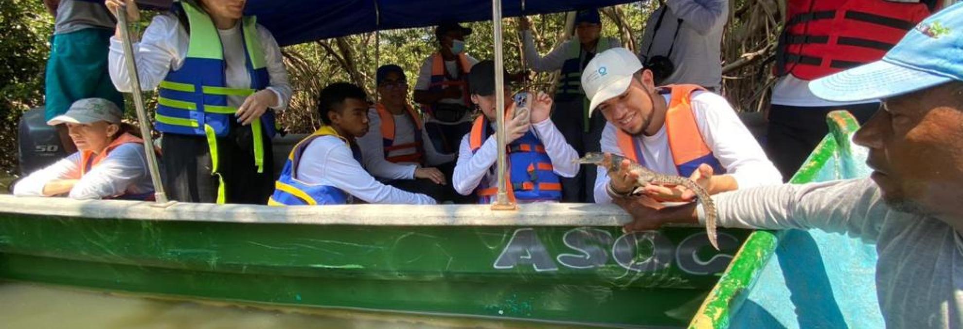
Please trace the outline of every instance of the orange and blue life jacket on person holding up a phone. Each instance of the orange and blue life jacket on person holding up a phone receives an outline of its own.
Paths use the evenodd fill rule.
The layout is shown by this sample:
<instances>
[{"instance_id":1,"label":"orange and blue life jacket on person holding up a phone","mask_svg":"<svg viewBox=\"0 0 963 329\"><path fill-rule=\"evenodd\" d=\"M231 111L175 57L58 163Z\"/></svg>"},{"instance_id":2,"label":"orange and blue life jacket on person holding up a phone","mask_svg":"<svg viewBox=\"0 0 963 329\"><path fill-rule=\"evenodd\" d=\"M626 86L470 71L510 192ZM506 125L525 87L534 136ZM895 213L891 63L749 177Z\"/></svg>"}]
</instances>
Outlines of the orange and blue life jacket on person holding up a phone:
<instances>
[{"instance_id":1,"label":"orange and blue life jacket on person holding up a phone","mask_svg":"<svg viewBox=\"0 0 963 329\"><path fill-rule=\"evenodd\" d=\"M472 153L481 148L481 144L494 131L488 120L482 115L475 120L469 135L469 147ZM508 199L534 201L560 201L561 183L559 175L552 167L552 159L545 152L538 137L532 131L518 138L508 145ZM489 184L481 182L475 189L480 204L491 204L498 194L497 182Z\"/></svg>"}]
</instances>

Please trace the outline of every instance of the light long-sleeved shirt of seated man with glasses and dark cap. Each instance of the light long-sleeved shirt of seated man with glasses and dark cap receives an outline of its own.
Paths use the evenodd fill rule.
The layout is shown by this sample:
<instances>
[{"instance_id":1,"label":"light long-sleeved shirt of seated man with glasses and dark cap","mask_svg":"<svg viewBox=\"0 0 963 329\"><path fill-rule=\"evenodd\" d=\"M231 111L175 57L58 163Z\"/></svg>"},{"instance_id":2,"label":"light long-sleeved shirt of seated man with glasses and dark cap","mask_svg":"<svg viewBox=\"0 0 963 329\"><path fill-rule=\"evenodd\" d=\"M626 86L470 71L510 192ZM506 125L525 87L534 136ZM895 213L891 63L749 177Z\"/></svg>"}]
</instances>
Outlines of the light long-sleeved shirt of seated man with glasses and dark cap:
<instances>
[{"instance_id":1,"label":"light long-sleeved shirt of seated man with glasses and dark cap","mask_svg":"<svg viewBox=\"0 0 963 329\"><path fill-rule=\"evenodd\" d=\"M415 125L408 115L394 115L395 145L414 143ZM364 167L372 176L382 179L412 179L419 164L411 162L394 163L384 159L384 143L381 138L381 116L377 109L368 110L368 133L357 139L361 148ZM434 145L428 137L428 132L422 129L422 146L425 148L425 162L428 166L435 166L455 160L455 154L442 154L434 150ZM407 155L415 149L389 151L388 156Z\"/></svg>"}]
</instances>

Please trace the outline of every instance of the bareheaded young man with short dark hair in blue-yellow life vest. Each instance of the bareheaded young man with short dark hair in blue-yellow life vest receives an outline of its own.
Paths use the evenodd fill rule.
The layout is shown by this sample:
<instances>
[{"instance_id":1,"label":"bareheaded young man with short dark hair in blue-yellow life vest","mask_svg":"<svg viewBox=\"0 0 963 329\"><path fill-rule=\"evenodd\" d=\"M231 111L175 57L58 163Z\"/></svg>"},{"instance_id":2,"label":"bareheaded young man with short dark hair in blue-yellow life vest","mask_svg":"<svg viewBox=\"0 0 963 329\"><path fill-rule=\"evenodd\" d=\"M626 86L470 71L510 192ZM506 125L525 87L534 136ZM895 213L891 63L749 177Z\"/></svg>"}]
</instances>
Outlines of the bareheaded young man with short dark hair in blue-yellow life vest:
<instances>
[{"instance_id":1,"label":"bareheaded young man with short dark hair in blue-yellow life vest","mask_svg":"<svg viewBox=\"0 0 963 329\"><path fill-rule=\"evenodd\" d=\"M435 204L424 194L382 184L361 167L354 139L368 132L366 99L361 88L345 82L321 91L318 112L325 125L291 151L268 205L344 205L355 198L369 204Z\"/></svg>"}]
</instances>

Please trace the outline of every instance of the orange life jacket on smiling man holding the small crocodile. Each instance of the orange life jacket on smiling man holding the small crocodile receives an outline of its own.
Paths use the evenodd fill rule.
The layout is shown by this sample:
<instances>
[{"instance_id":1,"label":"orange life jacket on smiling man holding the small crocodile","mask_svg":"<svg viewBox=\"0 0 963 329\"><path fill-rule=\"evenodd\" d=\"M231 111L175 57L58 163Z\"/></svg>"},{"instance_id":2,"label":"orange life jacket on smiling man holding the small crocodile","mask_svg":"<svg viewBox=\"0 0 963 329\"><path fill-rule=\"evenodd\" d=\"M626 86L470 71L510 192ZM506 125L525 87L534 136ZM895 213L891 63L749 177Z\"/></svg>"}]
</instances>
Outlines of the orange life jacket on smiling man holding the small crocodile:
<instances>
[{"instance_id":1,"label":"orange life jacket on smiling man holding the small crocodile","mask_svg":"<svg viewBox=\"0 0 963 329\"><path fill-rule=\"evenodd\" d=\"M665 114L665 134L668 136L668 147L672 151L672 161L679 176L690 177L703 163L712 166L716 174L725 174L725 168L706 145L692 114L692 93L705 89L696 85L671 85L663 87L663 90L669 91L672 96ZM617 128L615 137L619 150L626 157L645 165L642 143L638 138Z\"/></svg>"}]
</instances>

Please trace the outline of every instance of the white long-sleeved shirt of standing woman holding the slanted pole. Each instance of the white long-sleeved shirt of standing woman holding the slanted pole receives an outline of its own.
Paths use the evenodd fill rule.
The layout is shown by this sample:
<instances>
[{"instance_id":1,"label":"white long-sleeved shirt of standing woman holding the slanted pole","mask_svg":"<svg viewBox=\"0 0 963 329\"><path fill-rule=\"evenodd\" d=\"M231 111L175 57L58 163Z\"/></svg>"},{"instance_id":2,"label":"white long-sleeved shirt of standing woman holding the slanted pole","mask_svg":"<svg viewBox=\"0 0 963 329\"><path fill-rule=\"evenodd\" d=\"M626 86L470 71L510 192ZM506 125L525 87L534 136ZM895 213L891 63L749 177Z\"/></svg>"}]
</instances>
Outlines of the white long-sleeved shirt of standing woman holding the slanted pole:
<instances>
[{"instance_id":1,"label":"white long-sleeved shirt of standing woman holding the slanted pole","mask_svg":"<svg viewBox=\"0 0 963 329\"><path fill-rule=\"evenodd\" d=\"M224 51L226 69L224 78L227 87L247 88L250 76L245 67L244 39L241 33L240 21L238 25L218 30L221 36L221 46ZM283 111L288 107L293 90L288 83L287 69L282 62L281 49L268 29L257 25L257 39L264 50L264 60L268 69L269 87L277 95L277 103L271 108ZM187 57L190 36L177 20L177 17L159 14L154 16L150 25L143 30L143 38L134 44L134 57L137 62L138 74L141 78L141 90L151 91L157 88L171 69L180 69ZM130 76L124 63L123 44L117 37L111 38L110 61L111 80L117 91L129 93L131 91ZM228 96L228 106L237 107L244 103L243 96Z\"/></svg>"}]
</instances>

